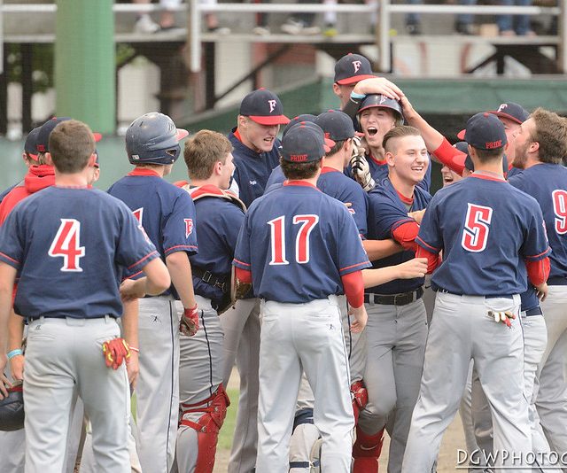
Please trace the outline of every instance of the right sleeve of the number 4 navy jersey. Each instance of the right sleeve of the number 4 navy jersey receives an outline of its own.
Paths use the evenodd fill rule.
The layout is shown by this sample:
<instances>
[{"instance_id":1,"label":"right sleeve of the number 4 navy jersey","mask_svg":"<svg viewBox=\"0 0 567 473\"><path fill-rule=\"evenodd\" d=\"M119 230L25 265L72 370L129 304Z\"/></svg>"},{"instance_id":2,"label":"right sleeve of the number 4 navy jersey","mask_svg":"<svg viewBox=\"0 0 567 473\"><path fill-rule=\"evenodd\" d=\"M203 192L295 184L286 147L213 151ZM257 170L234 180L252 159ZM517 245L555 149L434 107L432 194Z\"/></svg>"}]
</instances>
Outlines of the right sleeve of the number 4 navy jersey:
<instances>
[{"instance_id":1,"label":"right sleeve of the number 4 navy jersey","mask_svg":"<svg viewBox=\"0 0 567 473\"><path fill-rule=\"evenodd\" d=\"M159 258L159 252L126 205L120 208L120 225L116 261L127 269L128 275L136 275L151 260Z\"/></svg>"}]
</instances>

